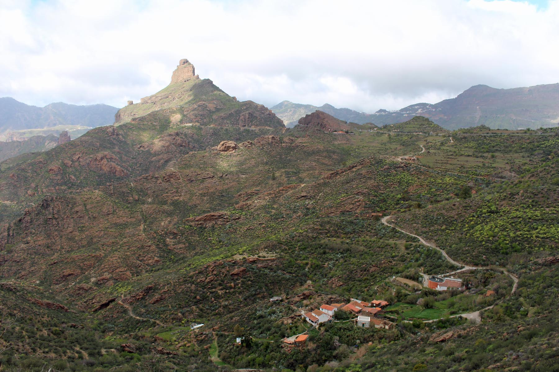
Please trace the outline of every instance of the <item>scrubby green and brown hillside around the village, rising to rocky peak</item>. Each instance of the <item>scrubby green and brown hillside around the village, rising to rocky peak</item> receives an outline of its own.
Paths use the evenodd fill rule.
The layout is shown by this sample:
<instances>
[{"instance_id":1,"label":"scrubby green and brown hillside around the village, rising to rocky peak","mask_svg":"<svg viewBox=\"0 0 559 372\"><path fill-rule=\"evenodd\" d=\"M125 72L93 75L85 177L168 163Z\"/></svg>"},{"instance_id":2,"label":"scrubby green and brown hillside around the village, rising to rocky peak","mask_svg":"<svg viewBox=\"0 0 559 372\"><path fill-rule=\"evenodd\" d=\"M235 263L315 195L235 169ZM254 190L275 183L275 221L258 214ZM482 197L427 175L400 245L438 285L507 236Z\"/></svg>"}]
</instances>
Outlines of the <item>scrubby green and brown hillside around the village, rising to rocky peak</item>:
<instances>
[{"instance_id":1,"label":"scrubby green and brown hillside around the village, rising to rocky peak","mask_svg":"<svg viewBox=\"0 0 559 372\"><path fill-rule=\"evenodd\" d=\"M557 368L557 133L321 113L286 130L185 76L179 105L2 163L3 370ZM456 274L479 291L395 281L458 267L377 214L489 267ZM342 313L283 345L310 328L301 311L349 298L389 301L394 326Z\"/></svg>"}]
</instances>

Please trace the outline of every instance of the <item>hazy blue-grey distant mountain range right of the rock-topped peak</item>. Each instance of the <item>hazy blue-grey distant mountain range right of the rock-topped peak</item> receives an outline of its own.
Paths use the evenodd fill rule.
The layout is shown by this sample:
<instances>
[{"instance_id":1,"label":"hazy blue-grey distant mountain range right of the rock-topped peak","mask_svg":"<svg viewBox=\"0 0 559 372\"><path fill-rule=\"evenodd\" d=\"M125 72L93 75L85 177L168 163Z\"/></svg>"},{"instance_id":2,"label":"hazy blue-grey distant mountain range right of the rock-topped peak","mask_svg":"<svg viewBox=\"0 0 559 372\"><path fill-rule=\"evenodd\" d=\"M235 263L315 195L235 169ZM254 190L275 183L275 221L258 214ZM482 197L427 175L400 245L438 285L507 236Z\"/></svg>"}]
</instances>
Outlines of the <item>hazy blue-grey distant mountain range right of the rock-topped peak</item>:
<instances>
[{"instance_id":1,"label":"hazy blue-grey distant mountain range right of the rock-topped peak","mask_svg":"<svg viewBox=\"0 0 559 372\"><path fill-rule=\"evenodd\" d=\"M556 127L559 122L559 84L544 84L525 88L496 89L487 85L474 85L456 98L439 103L416 103L396 111L384 109L374 114L351 109L337 109L329 104L322 107L283 101L272 107L286 126L292 126L297 115L303 117L309 110L321 110L335 118L378 126L404 122L414 116L433 120L443 128L486 125L493 129Z\"/></svg>"}]
</instances>

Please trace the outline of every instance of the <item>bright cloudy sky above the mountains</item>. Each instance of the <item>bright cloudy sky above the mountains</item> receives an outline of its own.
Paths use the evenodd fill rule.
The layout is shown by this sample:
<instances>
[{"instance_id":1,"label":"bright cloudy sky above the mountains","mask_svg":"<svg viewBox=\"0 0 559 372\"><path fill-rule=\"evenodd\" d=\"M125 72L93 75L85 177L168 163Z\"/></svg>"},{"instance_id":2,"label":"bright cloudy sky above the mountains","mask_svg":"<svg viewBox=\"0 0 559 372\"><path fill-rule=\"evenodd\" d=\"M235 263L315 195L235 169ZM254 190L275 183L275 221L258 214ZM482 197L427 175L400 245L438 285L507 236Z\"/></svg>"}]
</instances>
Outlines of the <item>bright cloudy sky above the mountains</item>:
<instances>
[{"instance_id":1,"label":"bright cloudy sky above the mountains","mask_svg":"<svg viewBox=\"0 0 559 372\"><path fill-rule=\"evenodd\" d=\"M117 107L188 58L240 100L364 112L559 82L559 0L0 0L0 96Z\"/></svg>"}]
</instances>

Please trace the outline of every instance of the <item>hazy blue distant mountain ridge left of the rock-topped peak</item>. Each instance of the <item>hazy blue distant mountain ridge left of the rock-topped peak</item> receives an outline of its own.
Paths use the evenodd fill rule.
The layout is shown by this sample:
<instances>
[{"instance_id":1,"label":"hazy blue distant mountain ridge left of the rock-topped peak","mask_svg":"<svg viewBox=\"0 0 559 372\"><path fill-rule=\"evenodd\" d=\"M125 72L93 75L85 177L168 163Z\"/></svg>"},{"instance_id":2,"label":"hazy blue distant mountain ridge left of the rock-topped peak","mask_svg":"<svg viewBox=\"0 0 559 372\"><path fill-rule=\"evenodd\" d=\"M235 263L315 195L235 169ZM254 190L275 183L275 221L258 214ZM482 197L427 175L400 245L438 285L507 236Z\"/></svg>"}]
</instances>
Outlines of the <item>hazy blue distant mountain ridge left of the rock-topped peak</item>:
<instances>
[{"instance_id":1,"label":"hazy blue distant mountain ridge left of the rock-topped peak","mask_svg":"<svg viewBox=\"0 0 559 372\"><path fill-rule=\"evenodd\" d=\"M62 102L36 107L3 97L0 98L0 133L57 125L95 128L112 124L118 110L106 104L72 105Z\"/></svg>"}]
</instances>

